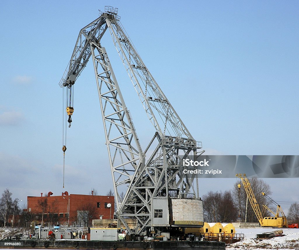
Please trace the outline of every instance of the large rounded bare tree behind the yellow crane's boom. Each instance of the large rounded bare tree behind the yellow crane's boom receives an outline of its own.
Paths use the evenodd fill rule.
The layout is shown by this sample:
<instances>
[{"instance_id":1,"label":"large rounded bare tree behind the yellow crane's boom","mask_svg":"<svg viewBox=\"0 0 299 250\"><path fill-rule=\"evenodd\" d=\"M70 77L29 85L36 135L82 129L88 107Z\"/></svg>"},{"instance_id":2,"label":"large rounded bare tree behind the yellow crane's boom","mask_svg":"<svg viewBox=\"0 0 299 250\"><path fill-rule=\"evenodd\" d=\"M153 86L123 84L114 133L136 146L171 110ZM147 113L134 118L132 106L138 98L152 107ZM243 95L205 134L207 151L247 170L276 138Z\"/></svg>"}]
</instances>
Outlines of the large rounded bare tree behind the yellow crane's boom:
<instances>
[{"instance_id":1,"label":"large rounded bare tree behind the yellow crane's boom","mask_svg":"<svg viewBox=\"0 0 299 250\"><path fill-rule=\"evenodd\" d=\"M265 196L262 195L262 192L266 193L267 195L271 195L272 191L270 188L270 185L266 183L263 179L252 177L248 178L250 182L250 186L252 188L252 191L254 193L254 196L257 200L257 203L259 204L260 211L263 212L263 216L269 216L269 211L266 209L263 209L263 205L266 205L270 209L274 209L272 203L265 198ZM238 188L238 184L241 185L240 188ZM232 197L234 200L234 204L237 207L237 210L239 212L239 217L241 218L241 221L245 222L245 215L246 215L246 203L247 203L247 194L244 189L244 186L242 184L242 181L237 181L234 184L234 189L232 191ZM246 222L258 222L257 216L255 215L251 204L248 200L247 205L247 218Z\"/></svg>"}]
</instances>

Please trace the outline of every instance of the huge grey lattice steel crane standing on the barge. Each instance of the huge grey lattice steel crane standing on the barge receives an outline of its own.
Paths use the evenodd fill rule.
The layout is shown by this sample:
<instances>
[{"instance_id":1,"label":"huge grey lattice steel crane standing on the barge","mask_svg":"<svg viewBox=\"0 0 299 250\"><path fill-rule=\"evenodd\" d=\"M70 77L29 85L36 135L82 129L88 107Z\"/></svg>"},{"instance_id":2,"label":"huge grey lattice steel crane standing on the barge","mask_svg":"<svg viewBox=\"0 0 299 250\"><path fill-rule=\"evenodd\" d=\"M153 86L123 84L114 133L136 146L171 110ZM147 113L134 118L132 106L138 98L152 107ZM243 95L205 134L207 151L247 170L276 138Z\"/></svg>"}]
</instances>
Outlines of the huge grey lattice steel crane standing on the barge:
<instances>
[{"instance_id":1,"label":"huge grey lattice steel crane standing on the barge","mask_svg":"<svg viewBox=\"0 0 299 250\"><path fill-rule=\"evenodd\" d=\"M155 128L155 134L144 151L107 52L101 44L105 32L110 33ZM80 30L71 60L59 83L67 90L65 108L70 125L74 111L72 86L90 57L100 98L118 219L131 234L149 235L173 231L174 228L203 226L197 178L181 171L183 159L201 153L197 152L202 148L201 142L196 142L190 134L144 65L120 24L117 8L106 6L99 18ZM123 200L122 191L125 192ZM127 217L136 219L135 229L129 228Z\"/></svg>"}]
</instances>

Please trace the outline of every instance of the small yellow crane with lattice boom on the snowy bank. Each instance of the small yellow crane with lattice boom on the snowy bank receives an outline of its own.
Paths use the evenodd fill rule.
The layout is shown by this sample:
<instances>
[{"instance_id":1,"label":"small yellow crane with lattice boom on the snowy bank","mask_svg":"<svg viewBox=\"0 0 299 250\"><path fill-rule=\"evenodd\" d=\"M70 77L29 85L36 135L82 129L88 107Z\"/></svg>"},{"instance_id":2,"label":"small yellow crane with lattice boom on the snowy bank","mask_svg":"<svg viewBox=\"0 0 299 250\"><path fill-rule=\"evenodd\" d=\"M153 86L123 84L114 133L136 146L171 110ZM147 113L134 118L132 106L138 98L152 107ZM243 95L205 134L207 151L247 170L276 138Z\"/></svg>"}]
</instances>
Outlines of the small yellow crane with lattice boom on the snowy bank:
<instances>
[{"instance_id":1,"label":"small yellow crane with lattice boom on the snowy bank","mask_svg":"<svg viewBox=\"0 0 299 250\"><path fill-rule=\"evenodd\" d=\"M280 208L280 205L277 204L276 214L270 208L268 208L266 205L263 205L264 208L266 208L272 214L275 215L275 217L269 217L269 216L263 217L263 215L260 211L260 206L257 203L257 200L254 196L254 193L252 191L250 182L249 182L246 174L236 174L236 177L239 177L242 180L243 186L244 186L246 194L248 196L248 200L249 200L251 207L252 207L255 215L257 216L257 219L262 227L278 227L278 228L287 227L287 225L288 225L287 219L286 219L286 216L283 213L282 209ZM240 188L240 185L238 185L238 187ZM263 194L263 195L266 195L266 194ZM270 199L272 202L274 202L269 196L266 195L266 197L268 199ZM283 216L279 216L280 212L282 213Z\"/></svg>"}]
</instances>

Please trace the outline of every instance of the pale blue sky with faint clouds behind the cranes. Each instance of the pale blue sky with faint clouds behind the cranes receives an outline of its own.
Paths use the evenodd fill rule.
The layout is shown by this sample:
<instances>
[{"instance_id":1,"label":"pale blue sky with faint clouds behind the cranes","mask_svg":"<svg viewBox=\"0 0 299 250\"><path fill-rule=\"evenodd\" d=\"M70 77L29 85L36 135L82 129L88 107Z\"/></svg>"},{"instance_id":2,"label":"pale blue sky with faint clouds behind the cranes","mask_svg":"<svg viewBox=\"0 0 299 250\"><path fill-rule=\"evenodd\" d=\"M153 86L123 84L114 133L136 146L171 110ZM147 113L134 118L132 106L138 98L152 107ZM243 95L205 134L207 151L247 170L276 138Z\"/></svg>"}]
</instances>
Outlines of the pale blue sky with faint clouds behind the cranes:
<instances>
[{"instance_id":1,"label":"pale blue sky with faint clouds behind the cranes","mask_svg":"<svg viewBox=\"0 0 299 250\"><path fill-rule=\"evenodd\" d=\"M62 189L58 85L80 29L105 5L118 8L147 68L208 154L298 155L298 1L1 1L0 192L26 200L112 188L89 62L74 88ZM108 33L102 45L145 148L155 131ZM237 180L212 181L201 180L201 194ZM297 180L266 181L274 200L299 200L298 191L286 195Z\"/></svg>"}]
</instances>

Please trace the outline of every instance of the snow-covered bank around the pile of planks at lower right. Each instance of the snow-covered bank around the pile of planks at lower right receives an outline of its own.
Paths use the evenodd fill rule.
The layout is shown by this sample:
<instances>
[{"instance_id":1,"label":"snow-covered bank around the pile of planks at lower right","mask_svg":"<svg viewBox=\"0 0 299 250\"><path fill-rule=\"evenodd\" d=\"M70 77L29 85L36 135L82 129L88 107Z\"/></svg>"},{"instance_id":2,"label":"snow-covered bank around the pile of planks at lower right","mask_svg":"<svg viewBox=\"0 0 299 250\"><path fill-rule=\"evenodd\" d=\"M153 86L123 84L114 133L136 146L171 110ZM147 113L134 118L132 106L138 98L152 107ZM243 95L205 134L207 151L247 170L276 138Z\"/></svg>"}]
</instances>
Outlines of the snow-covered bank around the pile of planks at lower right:
<instances>
[{"instance_id":1,"label":"snow-covered bank around the pile of planks at lower right","mask_svg":"<svg viewBox=\"0 0 299 250\"><path fill-rule=\"evenodd\" d=\"M226 246L226 249L299 249L299 229L282 228L285 236L274 237L268 240L255 239L256 234L272 232L280 228L237 228L236 234L244 234L244 240Z\"/></svg>"}]
</instances>

